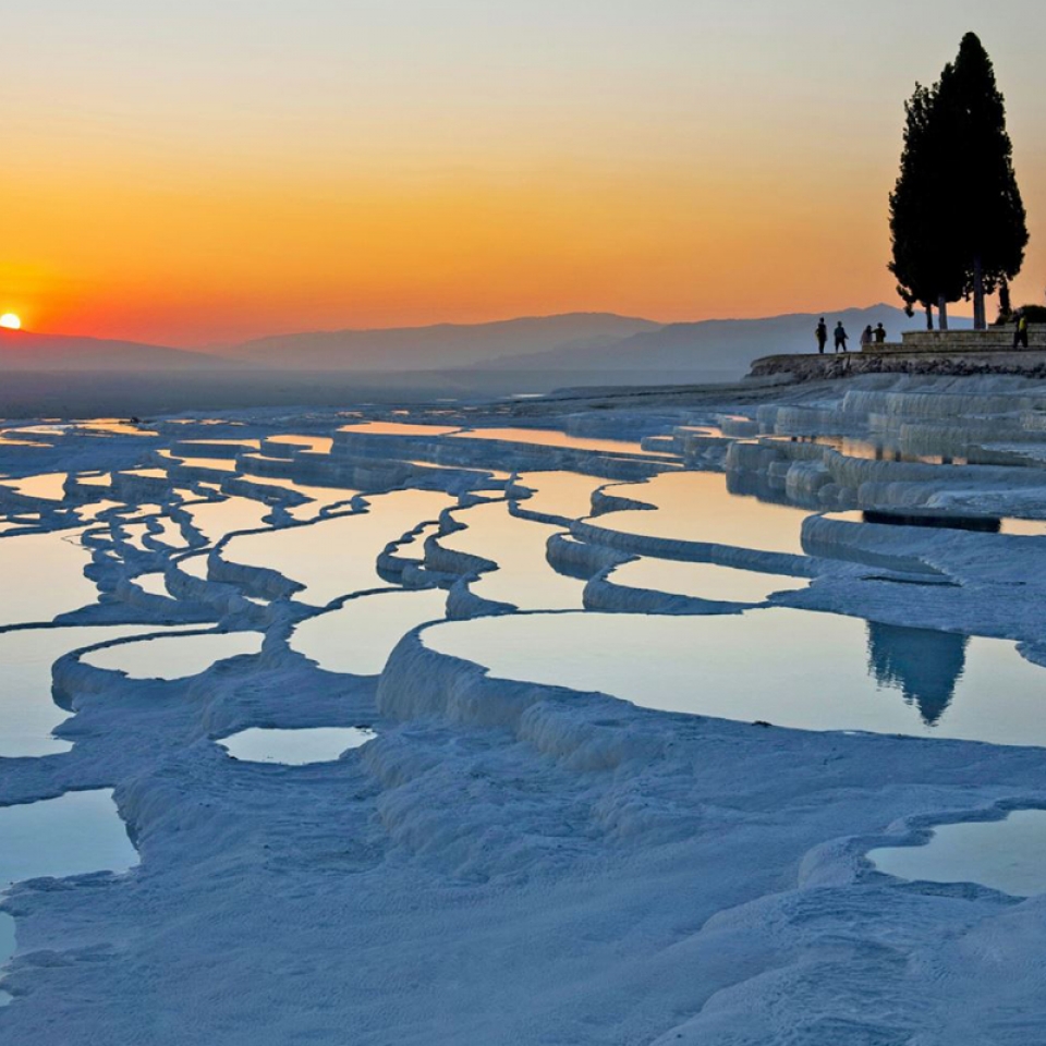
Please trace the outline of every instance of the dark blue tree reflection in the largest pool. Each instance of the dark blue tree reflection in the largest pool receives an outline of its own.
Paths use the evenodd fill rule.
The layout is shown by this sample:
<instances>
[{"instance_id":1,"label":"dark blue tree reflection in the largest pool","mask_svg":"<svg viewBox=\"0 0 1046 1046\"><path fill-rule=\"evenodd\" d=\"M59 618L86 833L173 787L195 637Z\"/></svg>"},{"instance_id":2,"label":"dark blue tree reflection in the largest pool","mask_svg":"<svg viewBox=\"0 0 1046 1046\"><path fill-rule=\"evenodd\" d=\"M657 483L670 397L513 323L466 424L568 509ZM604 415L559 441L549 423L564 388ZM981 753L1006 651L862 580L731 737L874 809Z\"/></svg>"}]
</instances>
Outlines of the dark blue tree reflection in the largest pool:
<instances>
[{"instance_id":1,"label":"dark blue tree reflection in the largest pool","mask_svg":"<svg viewBox=\"0 0 1046 1046\"><path fill-rule=\"evenodd\" d=\"M923 722L935 726L951 704L962 678L969 637L932 629L868 622L868 670L919 706Z\"/></svg>"}]
</instances>

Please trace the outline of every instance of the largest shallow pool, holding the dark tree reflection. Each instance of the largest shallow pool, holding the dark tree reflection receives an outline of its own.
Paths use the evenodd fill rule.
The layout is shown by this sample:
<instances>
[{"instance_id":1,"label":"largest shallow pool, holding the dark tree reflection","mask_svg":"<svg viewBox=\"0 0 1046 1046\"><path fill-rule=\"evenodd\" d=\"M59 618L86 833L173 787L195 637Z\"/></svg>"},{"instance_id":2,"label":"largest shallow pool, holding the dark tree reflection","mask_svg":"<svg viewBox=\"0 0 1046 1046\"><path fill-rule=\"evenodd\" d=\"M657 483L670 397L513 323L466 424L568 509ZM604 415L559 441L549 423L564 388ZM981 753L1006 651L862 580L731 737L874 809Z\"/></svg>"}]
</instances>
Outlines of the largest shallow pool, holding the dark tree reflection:
<instances>
[{"instance_id":1,"label":"largest shallow pool, holding the dark tree reflection","mask_svg":"<svg viewBox=\"0 0 1046 1046\"><path fill-rule=\"evenodd\" d=\"M424 642L491 676L665 711L1046 746L1046 670L1004 640L773 608L479 618Z\"/></svg>"}]
</instances>

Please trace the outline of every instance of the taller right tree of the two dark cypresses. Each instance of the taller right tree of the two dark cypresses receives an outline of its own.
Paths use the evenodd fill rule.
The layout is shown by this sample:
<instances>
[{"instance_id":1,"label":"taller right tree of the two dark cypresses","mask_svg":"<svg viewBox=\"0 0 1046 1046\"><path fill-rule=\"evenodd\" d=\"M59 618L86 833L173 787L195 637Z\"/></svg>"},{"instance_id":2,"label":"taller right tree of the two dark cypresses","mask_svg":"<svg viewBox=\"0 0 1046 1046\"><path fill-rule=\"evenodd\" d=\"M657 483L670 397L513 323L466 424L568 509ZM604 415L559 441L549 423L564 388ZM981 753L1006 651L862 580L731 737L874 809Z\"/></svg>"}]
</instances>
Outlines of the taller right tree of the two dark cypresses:
<instances>
[{"instance_id":1,"label":"taller right tree of the two dark cypresses","mask_svg":"<svg viewBox=\"0 0 1046 1046\"><path fill-rule=\"evenodd\" d=\"M1027 224L1013 172L1006 104L995 70L973 33L937 86L937 117L952 155L949 196L956 207L957 250L973 295L974 326L986 326L984 296L1021 270Z\"/></svg>"}]
</instances>

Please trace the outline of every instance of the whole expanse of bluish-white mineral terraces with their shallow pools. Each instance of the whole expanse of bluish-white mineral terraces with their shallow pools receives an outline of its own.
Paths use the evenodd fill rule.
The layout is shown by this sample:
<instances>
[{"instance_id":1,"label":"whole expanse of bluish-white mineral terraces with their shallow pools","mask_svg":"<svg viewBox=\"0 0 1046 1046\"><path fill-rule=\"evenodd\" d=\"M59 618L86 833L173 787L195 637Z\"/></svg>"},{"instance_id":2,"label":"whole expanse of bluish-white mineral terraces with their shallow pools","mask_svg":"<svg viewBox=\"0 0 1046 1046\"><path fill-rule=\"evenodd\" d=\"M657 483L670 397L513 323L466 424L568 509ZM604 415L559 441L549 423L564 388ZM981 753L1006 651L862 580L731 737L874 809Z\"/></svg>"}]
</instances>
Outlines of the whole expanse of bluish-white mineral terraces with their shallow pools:
<instances>
[{"instance_id":1,"label":"whole expanse of bluish-white mineral terraces with their shallow pools","mask_svg":"<svg viewBox=\"0 0 1046 1046\"><path fill-rule=\"evenodd\" d=\"M0 1043L1037 1042L1046 386L723 388L4 422Z\"/></svg>"}]
</instances>

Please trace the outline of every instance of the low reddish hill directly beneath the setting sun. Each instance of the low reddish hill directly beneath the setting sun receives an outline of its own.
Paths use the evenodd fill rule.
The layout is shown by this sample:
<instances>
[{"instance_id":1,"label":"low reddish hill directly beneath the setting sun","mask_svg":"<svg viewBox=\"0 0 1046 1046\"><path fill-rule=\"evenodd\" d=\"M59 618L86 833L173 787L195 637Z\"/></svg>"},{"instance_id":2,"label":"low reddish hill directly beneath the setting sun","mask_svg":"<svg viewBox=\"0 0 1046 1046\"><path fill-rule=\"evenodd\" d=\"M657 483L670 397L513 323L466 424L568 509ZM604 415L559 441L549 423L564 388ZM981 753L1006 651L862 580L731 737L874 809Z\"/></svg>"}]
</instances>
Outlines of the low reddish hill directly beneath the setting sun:
<instances>
[{"instance_id":1,"label":"low reddish hill directly beneath the setting sun","mask_svg":"<svg viewBox=\"0 0 1046 1046\"><path fill-rule=\"evenodd\" d=\"M0 369L214 372L239 369L232 360L148 345L64 335L0 329Z\"/></svg>"}]
</instances>

